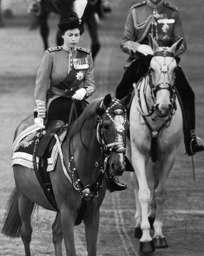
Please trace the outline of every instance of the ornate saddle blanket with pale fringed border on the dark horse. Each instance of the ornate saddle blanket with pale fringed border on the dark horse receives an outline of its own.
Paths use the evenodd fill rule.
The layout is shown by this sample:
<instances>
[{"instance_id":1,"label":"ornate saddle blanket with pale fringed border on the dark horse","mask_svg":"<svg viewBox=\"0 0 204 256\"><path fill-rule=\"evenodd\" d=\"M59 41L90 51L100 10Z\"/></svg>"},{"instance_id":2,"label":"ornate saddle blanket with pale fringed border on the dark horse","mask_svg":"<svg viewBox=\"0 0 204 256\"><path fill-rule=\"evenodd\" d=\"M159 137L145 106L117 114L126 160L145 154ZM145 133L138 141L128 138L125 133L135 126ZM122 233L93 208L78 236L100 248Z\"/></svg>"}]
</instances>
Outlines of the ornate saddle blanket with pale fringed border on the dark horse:
<instances>
[{"instance_id":1,"label":"ornate saddle blanket with pale fringed border on the dark horse","mask_svg":"<svg viewBox=\"0 0 204 256\"><path fill-rule=\"evenodd\" d=\"M14 164L20 164L27 168L33 169L33 148L35 140L38 139L40 129L33 125L24 130L20 135L17 136L12 145L12 166ZM66 135L66 131L59 136L59 142L63 141ZM53 171L58 155L62 154L59 152L57 143L55 143L50 157L47 159L48 166L47 171ZM39 158L36 159L37 165Z\"/></svg>"}]
</instances>

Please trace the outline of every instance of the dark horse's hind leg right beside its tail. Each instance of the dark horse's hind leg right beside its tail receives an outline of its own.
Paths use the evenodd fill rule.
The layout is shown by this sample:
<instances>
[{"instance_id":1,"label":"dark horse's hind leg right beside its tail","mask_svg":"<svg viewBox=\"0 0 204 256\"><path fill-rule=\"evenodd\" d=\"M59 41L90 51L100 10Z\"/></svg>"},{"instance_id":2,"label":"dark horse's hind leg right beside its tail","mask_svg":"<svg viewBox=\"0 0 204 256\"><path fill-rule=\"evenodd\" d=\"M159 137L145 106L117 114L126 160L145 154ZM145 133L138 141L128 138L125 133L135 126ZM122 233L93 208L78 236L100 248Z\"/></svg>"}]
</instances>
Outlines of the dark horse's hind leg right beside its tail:
<instances>
[{"instance_id":1,"label":"dark horse's hind leg right beside its tail","mask_svg":"<svg viewBox=\"0 0 204 256\"><path fill-rule=\"evenodd\" d=\"M30 242L33 229L31 227L31 214L33 210L33 202L25 195L19 195L19 214L22 220L20 236L24 244L26 256L31 256Z\"/></svg>"}]
</instances>

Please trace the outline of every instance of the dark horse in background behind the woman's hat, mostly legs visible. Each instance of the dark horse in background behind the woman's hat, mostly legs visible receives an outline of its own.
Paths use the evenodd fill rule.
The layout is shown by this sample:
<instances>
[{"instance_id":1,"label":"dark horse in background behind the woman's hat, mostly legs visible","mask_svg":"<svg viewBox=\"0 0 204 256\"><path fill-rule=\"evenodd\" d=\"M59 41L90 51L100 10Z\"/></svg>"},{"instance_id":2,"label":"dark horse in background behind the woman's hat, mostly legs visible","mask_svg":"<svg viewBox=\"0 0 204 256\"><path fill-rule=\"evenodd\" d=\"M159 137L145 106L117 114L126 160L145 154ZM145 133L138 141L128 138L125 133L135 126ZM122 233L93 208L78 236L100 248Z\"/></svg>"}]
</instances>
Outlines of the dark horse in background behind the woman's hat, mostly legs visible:
<instances>
[{"instance_id":1,"label":"dark horse in background behind the woman's hat, mostly legs visible","mask_svg":"<svg viewBox=\"0 0 204 256\"><path fill-rule=\"evenodd\" d=\"M67 18L68 10L70 9L69 0L41 0L40 1L40 14L39 14L39 25L40 34L44 41L45 49L48 46L48 34L49 27L47 24L48 16L51 12L58 13L60 16L60 22ZM84 17L86 24L88 26L89 34L92 39L92 58L94 60L96 54L100 48L99 36L98 36L98 25L94 16L94 13L99 13L101 15L101 0L88 0L87 6L85 8ZM57 35L57 45L62 45L63 40Z\"/></svg>"}]
</instances>

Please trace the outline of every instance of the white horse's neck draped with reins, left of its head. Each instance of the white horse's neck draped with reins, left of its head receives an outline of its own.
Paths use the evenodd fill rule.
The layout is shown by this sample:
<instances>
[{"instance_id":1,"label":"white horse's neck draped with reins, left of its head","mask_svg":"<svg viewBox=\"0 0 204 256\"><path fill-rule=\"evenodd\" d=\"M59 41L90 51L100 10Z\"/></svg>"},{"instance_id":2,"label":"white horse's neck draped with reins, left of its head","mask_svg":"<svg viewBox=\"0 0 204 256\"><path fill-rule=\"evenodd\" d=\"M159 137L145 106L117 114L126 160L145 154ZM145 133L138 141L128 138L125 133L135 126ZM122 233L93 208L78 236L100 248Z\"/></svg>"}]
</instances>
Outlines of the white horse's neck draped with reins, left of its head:
<instances>
[{"instance_id":1,"label":"white horse's neck draped with reins, left of its head","mask_svg":"<svg viewBox=\"0 0 204 256\"><path fill-rule=\"evenodd\" d=\"M138 82L135 89L136 106L142 115L150 114L150 110L154 104L151 97L151 88L149 85L149 76L145 76Z\"/></svg>"}]
</instances>

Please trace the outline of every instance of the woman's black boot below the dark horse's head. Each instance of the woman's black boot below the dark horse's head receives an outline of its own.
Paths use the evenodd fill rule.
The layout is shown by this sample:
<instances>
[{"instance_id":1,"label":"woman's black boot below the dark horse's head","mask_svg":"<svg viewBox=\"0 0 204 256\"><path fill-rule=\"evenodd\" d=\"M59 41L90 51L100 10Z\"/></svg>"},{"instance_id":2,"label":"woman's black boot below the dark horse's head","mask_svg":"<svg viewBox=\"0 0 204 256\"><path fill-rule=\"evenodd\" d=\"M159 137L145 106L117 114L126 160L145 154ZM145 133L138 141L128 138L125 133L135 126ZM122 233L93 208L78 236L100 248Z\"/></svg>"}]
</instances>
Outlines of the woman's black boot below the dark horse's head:
<instances>
[{"instance_id":1,"label":"woman's black boot below the dark horse's head","mask_svg":"<svg viewBox=\"0 0 204 256\"><path fill-rule=\"evenodd\" d=\"M123 183L120 183L116 176L111 175L108 168L105 170L105 177L107 181L107 189L112 193L114 191L121 191L127 189L127 186Z\"/></svg>"}]
</instances>

